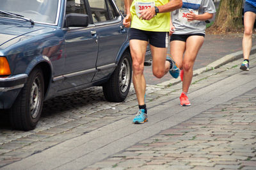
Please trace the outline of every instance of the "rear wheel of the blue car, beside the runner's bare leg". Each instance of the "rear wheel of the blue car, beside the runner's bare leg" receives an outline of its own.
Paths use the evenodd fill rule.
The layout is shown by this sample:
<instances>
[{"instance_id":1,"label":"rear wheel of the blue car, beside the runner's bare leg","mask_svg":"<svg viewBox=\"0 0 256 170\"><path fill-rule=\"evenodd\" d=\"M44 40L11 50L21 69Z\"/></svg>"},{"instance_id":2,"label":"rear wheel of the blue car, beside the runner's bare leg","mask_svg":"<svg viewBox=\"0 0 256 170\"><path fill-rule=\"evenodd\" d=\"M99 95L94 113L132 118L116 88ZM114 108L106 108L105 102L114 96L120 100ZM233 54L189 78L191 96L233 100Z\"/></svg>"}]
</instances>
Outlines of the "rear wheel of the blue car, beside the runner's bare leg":
<instances>
[{"instance_id":1,"label":"rear wheel of the blue car, beside the runner's bare leg","mask_svg":"<svg viewBox=\"0 0 256 170\"><path fill-rule=\"evenodd\" d=\"M123 102L129 93L132 79L132 59L124 52L108 82L103 84L103 93L109 102Z\"/></svg>"}]
</instances>

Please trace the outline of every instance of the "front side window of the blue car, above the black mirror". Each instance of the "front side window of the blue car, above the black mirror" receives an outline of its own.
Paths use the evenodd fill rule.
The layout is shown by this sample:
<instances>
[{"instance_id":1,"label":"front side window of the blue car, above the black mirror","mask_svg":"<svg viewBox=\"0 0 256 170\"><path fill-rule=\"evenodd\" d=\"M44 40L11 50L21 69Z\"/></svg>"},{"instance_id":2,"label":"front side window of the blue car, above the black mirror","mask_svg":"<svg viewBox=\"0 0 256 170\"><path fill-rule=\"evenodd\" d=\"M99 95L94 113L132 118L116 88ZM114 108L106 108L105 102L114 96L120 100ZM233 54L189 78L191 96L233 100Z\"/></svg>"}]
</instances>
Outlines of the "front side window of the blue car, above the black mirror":
<instances>
[{"instance_id":1,"label":"front side window of the blue car, above the black mirror","mask_svg":"<svg viewBox=\"0 0 256 170\"><path fill-rule=\"evenodd\" d=\"M68 13L88 14L84 0L67 0L66 14Z\"/></svg>"}]
</instances>

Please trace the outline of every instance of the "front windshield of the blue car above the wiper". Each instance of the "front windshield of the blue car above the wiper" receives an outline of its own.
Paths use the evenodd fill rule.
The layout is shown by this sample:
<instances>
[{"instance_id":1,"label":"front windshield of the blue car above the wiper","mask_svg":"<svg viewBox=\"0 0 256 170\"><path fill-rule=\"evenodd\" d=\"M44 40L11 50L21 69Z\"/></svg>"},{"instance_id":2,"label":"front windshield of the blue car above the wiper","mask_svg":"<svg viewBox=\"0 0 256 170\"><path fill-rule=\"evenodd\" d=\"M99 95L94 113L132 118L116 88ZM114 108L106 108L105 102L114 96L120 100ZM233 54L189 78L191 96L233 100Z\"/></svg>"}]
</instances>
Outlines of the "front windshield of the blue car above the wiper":
<instances>
[{"instance_id":1,"label":"front windshield of the blue car above the wiper","mask_svg":"<svg viewBox=\"0 0 256 170\"><path fill-rule=\"evenodd\" d=\"M0 0L0 10L22 15L35 22L56 24L58 1L60 0ZM3 15L0 17L12 17Z\"/></svg>"}]
</instances>

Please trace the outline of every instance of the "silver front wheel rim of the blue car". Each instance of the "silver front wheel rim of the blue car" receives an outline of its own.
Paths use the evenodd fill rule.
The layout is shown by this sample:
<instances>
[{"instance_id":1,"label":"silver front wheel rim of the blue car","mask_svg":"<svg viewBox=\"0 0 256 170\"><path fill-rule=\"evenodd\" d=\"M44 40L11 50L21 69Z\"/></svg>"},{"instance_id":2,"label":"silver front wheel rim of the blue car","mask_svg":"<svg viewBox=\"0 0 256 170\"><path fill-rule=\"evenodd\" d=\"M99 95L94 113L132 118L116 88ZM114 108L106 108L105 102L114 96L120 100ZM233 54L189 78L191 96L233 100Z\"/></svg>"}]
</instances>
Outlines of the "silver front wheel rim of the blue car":
<instances>
[{"instance_id":1,"label":"silver front wheel rim of the blue car","mask_svg":"<svg viewBox=\"0 0 256 170\"><path fill-rule=\"evenodd\" d=\"M33 119L38 116L38 105L40 104L40 81L36 78L33 82L31 93L30 93L30 112Z\"/></svg>"}]
</instances>

